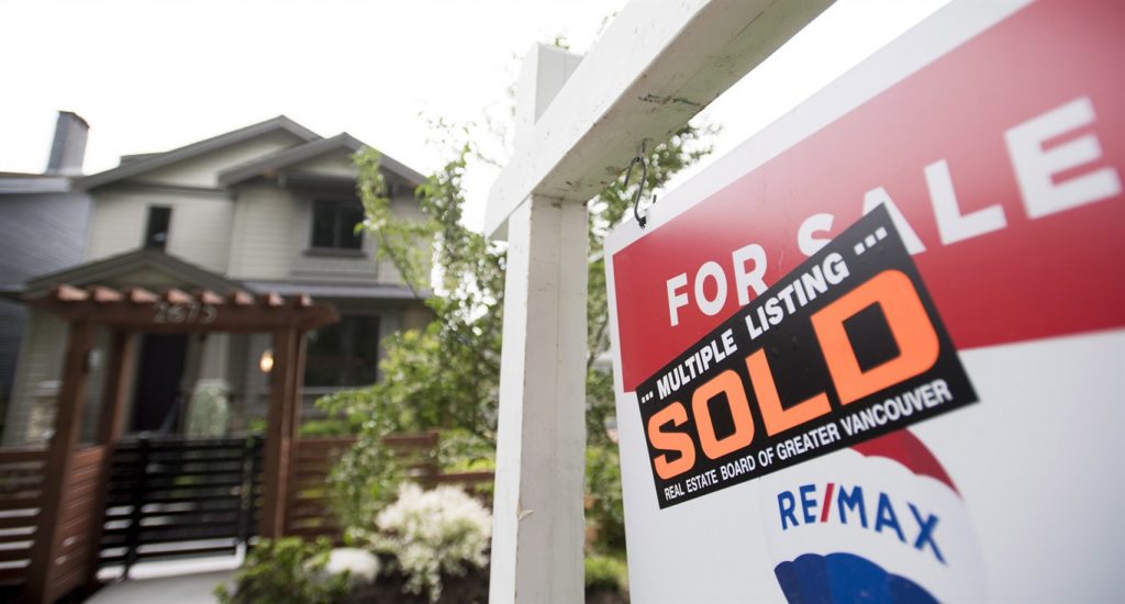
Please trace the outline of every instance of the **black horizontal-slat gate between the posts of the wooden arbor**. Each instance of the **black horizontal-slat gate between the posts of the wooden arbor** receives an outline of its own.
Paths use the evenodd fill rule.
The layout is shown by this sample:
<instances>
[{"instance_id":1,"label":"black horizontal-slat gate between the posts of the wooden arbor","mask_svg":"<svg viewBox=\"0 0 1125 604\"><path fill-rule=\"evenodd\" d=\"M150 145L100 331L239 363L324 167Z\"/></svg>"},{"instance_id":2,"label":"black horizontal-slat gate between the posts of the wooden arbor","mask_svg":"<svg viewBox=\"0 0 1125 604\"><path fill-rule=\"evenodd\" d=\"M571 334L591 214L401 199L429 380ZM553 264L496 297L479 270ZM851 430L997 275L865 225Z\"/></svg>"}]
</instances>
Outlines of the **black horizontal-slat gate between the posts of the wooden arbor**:
<instances>
[{"instance_id":1,"label":"black horizontal-slat gate between the posts of the wooden arbor","mask_svg":"<svg viewBox=\"0 0 1125 604\"><path fill-rule=\"evenodd\" d=\"M101 566L233 556L256 531L262 439L122 441L111 460Z\"/></svg>"}]
</instances>

